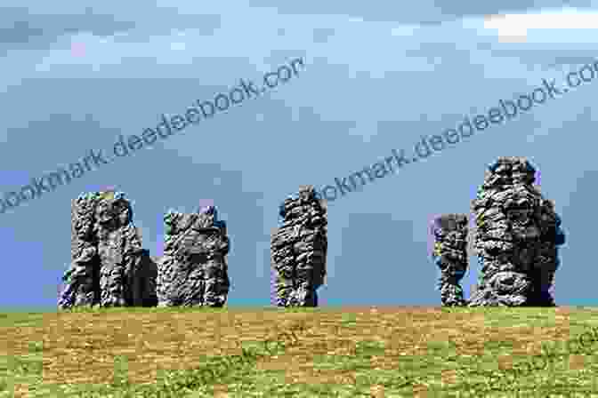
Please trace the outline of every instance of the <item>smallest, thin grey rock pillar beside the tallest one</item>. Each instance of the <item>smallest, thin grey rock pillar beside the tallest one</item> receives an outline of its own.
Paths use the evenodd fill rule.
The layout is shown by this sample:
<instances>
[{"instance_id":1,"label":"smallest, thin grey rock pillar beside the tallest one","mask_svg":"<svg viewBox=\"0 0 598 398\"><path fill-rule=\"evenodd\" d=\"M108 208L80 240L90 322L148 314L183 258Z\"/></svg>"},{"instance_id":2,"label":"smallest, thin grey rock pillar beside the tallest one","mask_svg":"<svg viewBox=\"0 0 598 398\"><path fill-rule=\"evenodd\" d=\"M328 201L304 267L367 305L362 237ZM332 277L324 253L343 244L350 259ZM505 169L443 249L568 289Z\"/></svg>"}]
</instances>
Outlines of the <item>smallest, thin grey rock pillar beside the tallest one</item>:
<instances>
[{"instance_id":1,"label":"smallest, thin grey rock pillar beside the tallest one","mask_svg":"<svg viewBox=\"0 0 598 398\"><path fill-rule=\"evenodd\" d=\"M440 297L443 306L464 306L459 282L467 270L467 215L447 214L432 221L432 261L440 268Z\"/></svg>"}]
</instances>

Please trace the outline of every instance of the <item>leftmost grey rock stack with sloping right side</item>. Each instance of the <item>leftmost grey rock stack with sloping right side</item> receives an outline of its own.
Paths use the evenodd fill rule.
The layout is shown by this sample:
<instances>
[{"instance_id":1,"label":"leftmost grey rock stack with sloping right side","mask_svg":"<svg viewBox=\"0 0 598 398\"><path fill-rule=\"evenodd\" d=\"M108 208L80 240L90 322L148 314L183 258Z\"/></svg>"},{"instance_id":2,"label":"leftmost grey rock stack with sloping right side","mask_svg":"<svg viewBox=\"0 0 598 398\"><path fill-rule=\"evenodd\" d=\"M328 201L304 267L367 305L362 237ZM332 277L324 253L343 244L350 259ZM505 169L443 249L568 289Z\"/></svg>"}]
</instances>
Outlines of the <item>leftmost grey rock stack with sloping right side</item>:
<instances>
[{"instance_id":1,"label":"leftmost grey rock stack with sloping right side","mask_svg":"<svg viewBox=\"0 0 598 398\"><path fill-rule=\"evenodd\" d=\"M59 308L155 306L157 271L123 193L95 192L71 203L71 265Z\"/></svg>"}]
</instances>

